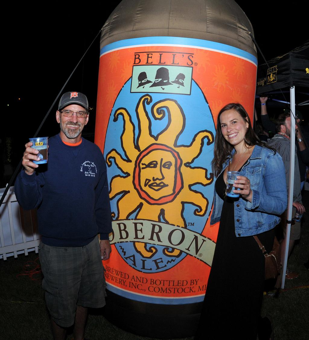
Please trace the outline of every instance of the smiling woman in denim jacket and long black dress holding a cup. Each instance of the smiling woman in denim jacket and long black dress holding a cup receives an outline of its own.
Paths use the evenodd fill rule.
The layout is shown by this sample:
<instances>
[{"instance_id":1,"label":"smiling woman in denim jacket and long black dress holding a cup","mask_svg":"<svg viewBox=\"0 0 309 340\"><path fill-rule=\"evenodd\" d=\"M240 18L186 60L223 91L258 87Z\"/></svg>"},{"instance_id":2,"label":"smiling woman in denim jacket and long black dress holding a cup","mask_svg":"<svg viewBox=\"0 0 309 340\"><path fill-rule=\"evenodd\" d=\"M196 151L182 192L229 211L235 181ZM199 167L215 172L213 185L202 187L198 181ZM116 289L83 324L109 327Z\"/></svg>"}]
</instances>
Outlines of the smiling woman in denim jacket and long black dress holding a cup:
<instances>
[{"instance_id":1,"label":"smiling woman in denim jacket and long black dress holding a cup","mask_svg":"<svg viewBox=\"0 0 309 340\"><path fill-rule=\"evenodd\" d=\"M195 339L225 339L228 334L231 339L256 340L265 259L253 236L271 251L273 228L287 207L284 164L258 139L240 104L228 104L219 112L214 149L217 181L211 224L220 221L220 226ZM240 171L233 190L238 198L225 194L227 171Z\"/></svg>"}]
</instances>

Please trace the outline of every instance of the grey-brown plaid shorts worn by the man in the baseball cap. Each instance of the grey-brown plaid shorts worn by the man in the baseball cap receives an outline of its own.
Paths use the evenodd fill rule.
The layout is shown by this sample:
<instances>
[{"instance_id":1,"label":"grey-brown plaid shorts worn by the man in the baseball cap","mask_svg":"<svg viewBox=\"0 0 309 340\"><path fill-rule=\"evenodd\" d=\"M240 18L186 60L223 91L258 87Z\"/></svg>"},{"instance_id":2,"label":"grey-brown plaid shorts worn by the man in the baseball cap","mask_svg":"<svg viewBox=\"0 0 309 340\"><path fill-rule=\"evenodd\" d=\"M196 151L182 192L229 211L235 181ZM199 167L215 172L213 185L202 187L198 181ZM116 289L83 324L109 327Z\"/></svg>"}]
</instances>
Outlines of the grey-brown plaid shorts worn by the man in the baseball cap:
<instances>
[{"instance_id":1,"label":"grey-brown plaid shorts worn by the man in the baseball cap","mask_svg":"<svg viewBox=\"0 0 309 340\"><path fill-rule=\"evenodd\" d=\"M76 305L105 305L105 278L100 245L95 237L82 247L39 245L46 305L61 327L74 324Z\"/></svg>"}]
</instances>

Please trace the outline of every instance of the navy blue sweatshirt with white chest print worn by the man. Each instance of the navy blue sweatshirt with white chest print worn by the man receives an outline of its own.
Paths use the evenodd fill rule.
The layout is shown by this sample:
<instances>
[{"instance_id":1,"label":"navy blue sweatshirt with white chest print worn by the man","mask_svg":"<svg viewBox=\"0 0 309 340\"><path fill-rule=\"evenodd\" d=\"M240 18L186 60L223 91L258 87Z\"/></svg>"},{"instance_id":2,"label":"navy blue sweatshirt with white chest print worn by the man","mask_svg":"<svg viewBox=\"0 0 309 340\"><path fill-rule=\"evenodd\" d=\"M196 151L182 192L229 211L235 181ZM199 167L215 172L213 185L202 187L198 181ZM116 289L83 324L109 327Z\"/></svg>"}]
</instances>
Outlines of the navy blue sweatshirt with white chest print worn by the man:
<instances>
[{"instance_id":1,"label":"navy blue sweatshirt with white chest print worn by the man","mask_svg":"<svg viewBox=\"0 0 309 340\"><path fill-rule=\"evenodd\" d=\"M48 163L33 175L22 170L15 182L18 203L26 210L37 208L42 242L83 246L98 233L108 239L111 213L101 150L84 138L79 146L68 146L59 135L48 144Z\"/></svg>"}]
</instances>

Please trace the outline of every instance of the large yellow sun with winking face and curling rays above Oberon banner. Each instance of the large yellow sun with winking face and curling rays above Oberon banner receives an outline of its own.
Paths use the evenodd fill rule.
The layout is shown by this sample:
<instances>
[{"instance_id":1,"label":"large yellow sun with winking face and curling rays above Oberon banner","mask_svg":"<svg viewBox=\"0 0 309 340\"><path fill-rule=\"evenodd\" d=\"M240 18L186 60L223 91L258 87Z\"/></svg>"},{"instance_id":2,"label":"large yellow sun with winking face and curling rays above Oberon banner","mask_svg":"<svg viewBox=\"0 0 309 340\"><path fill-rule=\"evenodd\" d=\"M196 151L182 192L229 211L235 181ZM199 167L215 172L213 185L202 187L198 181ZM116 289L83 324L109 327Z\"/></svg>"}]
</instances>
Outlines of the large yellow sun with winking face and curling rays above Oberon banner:
<instances>
[{"instance_id":1,"label":"large yellow sun with winking face and curling rays above Oberon banner","mask_svg":"<svg viewBox=\"0 0 309 340\"><path fill-rule=\"evenodd\" d=\"M207 169L193 167L192 163L201 154L204 144L213 142L213 134L208 130L196 133L190 145L178 145L178 139L185 128L185 115L176 100L164 99L151 106L154 120L167 116L167 125L157 135L152 134L152 122L147 105L152 103L150 95L142 96L136 105L138 135L126 108L118 108L114 121L123 118L121 147L124 157L116 150L106 155L107 166L113 162L123 175L116 175L110 181L110 199L120 196L116 220L135 218L166 222L178 227L187 227L184 205L196 207L194 214L204 216L208 200L192 188L195 184L207 186L212 183L212 174ZM150 107L149 107L150 108ZM144 258L157 253L154 245L134 243L135 250ZM167 256L178 257L181 251L165 248Z\"/></svg>"}]
</instances>

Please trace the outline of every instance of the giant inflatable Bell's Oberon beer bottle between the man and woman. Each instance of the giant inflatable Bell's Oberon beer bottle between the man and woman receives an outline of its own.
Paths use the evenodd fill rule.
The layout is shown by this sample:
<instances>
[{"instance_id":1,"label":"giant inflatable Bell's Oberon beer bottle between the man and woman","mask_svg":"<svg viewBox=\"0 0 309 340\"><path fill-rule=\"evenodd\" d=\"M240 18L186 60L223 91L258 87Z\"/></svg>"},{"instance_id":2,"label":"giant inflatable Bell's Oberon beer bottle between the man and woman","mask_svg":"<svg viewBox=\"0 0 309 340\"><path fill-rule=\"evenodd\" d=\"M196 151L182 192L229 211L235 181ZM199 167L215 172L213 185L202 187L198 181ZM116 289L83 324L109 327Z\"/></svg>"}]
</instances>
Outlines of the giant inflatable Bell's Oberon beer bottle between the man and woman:
<instances>
[{"instance_id":1,"label":"giant inflatable Bell's Oberon beer bottle between the man and woman","mask_svg":"<svg viewBox=\"0 0 309 340\"><path fill-rule=\"evenodd\" d=\"M224 0L123 0L103 26L95 142L113 220L106 316L132 333L194 334L218 233L217 114L239 102L253 116L248 31Z\"/></svg>"}]
</instances>

